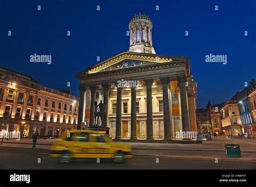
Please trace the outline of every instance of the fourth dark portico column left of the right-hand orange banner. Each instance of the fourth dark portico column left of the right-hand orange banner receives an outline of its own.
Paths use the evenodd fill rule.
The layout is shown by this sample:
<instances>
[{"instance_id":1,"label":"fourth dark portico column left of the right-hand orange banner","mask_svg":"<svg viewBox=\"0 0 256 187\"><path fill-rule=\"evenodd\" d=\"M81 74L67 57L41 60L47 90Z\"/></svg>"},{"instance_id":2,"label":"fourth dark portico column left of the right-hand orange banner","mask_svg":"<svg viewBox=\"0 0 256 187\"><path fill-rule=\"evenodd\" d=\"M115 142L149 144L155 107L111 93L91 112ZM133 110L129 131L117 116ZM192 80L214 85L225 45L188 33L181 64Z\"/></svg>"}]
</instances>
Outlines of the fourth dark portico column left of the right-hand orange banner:
<instances>
[{"instance_id":1,"label":"fourth dark portico column left of the right-hand orange banner","mask_svg":"<svg viewBox=\"0 0 256 187\"><path fill-rule=\"evenodd\" d=\"M116 84L117 86L117 84ZM116 139L122 138L122 87L117 87Z\"/></svg>"}]
</instances>

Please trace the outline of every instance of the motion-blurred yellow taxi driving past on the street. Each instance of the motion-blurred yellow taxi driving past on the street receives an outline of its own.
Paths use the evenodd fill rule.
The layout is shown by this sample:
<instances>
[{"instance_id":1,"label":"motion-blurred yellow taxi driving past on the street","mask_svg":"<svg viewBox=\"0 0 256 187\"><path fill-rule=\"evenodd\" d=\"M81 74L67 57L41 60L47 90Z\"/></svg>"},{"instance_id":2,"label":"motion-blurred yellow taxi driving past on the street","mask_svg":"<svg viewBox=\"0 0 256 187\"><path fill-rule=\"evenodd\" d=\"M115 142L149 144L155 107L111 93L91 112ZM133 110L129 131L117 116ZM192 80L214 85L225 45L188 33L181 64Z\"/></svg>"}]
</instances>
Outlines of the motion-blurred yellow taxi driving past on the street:
<instances>
[{"instance_id":1,"label":"motion-blurred yellow taxi driving past on the street","mask_svg":"<svg viewBox=\"0 0 256 187\"><path fill-rule=\"evenodd\" d=\"M131 158L131 146L112 142L105 132L90 130L65 131L53 143L50 156L59 157L60 162L70 162L71 159L104 158L114 162L124 162Z\"/></svg>"}]
</instances>

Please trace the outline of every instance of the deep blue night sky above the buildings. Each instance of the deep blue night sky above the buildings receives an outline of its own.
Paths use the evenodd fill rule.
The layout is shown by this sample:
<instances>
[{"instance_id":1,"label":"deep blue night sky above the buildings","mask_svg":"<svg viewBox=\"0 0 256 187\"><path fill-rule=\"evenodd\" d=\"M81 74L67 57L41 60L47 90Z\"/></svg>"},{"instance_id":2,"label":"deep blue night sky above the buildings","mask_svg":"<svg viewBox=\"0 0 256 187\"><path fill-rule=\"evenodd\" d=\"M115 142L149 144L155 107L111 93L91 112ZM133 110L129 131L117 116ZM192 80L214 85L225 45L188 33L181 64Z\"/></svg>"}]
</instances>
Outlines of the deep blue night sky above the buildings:
<instances>
[{"instance_id":1,"label":"deep blue night sky above the buildings","mask_svg":"<svg viewBox=\"0 0 256 187\"><path fill-rule=\"evenodd\" d=\"M98 63L97 56L103 61L127 51L128 24L139 10L153 22L157 54L190 57L198 83L198 107L204 107L208 99L212 104L230 99L244 89L244 82L255 78L254 0L0 0L0 66L32 75L53 89L68 89L71 82L71 93L78 95L79 81L74 75ZM34 53L52 55L52 63L31 63ZM210 53L227 55L227 64L206 63L205 55Z\"/></svg>"}]
</instances>

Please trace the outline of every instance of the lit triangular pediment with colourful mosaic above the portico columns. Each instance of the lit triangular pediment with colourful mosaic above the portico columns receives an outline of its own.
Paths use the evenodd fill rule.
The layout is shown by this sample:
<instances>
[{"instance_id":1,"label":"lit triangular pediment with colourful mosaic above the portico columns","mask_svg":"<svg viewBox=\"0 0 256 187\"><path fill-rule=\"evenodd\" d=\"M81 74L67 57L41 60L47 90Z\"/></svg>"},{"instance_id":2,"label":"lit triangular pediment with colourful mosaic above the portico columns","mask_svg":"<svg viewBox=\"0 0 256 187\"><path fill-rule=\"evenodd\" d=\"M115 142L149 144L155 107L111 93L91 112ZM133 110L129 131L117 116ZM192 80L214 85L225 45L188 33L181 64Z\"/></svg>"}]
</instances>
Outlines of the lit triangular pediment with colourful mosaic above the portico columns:
<instances>
[{"instance_id":1,"label":"lit triangular pediment with colourful mosaic above the portico columns","mask_svg":"<svg viewBox=\"0 0 256 187\"><path fill-rule=\"evenodd\" d=\"M147 66L150 64L164 63L164 62L171 62L171 61L172 61L171 57L166 57L166 56L163 57L161 55L156 55L156 54L123 52L87 69L86 73L92 74L92 73L98 73L103 71L113 71L118 69Z\"/></svg>"}]
</instances>

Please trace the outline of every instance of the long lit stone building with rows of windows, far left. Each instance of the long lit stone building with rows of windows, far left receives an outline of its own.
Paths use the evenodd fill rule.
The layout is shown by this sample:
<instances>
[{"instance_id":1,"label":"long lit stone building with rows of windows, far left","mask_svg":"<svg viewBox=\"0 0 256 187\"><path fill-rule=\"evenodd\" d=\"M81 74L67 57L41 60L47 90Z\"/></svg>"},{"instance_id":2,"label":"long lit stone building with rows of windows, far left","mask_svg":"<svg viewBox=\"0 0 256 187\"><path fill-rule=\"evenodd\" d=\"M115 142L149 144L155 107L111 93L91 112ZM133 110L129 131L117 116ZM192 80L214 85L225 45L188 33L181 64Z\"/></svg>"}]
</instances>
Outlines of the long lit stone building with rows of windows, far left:
<instances>
[{"instance_id":1,"label":"long lit stone building with rows of windows, far left","mask_svg":"<svg viewBox=\"0 0 256 187\"><path fill-rule=\"evenodd\" d=\"M0 67L0 130L21 132L28 137L32 131L43 136L59 136L76 128L77 97L68 92L44 87L16 71Z\"/></svg>"}]
</instances>

